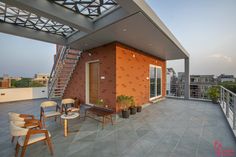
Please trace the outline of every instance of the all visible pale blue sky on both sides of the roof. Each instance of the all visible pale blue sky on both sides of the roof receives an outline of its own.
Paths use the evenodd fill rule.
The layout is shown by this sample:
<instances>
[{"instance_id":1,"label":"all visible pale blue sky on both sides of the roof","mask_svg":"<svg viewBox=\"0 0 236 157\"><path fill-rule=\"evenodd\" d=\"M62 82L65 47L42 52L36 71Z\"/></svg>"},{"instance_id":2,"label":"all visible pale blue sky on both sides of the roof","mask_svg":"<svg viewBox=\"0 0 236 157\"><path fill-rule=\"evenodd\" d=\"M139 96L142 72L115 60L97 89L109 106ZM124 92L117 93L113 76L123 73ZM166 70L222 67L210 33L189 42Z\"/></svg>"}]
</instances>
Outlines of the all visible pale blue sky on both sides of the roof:
<instances>
[{"instance_id":1,"label":"all visible pale blue sky on both sides of the roof","mask_svg":"<svg viewBox=\"0 0 236 157\"><path fill-rule=\"evenodd\" d=\"M146 0L190 54L190 74L236 75L236 0ZM0 33L0 76L50 73L55 45ZM184 61L167 67L184 71Z\"/></svg>"}]
</instances>

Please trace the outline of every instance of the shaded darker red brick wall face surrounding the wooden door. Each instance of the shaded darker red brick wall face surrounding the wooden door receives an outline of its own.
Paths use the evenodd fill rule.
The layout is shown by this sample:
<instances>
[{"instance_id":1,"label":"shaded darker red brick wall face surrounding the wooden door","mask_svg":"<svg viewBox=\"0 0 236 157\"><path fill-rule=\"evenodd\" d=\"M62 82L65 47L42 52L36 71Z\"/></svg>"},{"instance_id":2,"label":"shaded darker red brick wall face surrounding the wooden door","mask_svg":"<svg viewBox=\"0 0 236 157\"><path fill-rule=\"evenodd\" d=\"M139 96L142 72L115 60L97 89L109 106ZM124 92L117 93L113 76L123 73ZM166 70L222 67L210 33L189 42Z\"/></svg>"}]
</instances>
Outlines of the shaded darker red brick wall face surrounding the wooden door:
<instances>
[{"instance_id":1,"label":"shaded darker red brick wall face surrounding the wooden door","mask_svg":"<svg viewBox=\"0 0 236 157\"><path fill-rule=\"evenodd\" d=\"M100 63L100 76L105 76L104 80L100 80L99 98L103 99L109 107L115 109L115 43L82 53L63 97L78 97L82 103L86 102L85 65L86 62L95 60L99 60Z\"/></svg>"}]
</instances>

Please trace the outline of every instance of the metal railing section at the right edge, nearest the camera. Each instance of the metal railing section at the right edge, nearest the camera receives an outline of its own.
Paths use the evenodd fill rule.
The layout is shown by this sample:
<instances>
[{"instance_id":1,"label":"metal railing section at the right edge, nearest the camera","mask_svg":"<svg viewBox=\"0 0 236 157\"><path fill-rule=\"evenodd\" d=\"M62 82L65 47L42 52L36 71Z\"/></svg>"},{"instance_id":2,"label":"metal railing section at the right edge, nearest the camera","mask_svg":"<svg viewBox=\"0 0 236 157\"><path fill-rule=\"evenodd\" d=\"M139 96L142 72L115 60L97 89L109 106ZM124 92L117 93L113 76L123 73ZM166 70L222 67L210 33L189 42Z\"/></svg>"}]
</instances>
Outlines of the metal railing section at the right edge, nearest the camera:
<instances>
[{"instance_id":1,"label":"metal railing section at the right edge, nearest the camera","mask_svg":"<svg viewBox=\"0 0 236 157\"><path fill-rule=\"evenodd\" d=\"M233 130L236 130L236 94L220 86L220 105Z\"/></svg>"}]
</instances>

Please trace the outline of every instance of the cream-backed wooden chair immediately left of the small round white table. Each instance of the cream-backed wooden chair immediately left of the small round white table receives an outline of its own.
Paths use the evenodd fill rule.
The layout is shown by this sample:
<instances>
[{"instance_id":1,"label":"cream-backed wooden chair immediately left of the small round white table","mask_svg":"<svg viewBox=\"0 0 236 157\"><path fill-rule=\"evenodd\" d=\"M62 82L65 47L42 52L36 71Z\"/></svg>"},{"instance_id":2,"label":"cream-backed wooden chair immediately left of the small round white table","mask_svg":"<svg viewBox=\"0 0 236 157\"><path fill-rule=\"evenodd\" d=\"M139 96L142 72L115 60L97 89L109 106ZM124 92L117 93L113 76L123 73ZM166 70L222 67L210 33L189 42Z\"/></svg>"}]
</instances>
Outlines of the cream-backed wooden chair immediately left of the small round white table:
<instances>
[{"instance_id":1,"label":"cream-backed wooden chair immediately left of the small round white table","mask_svg":"<svg viewBox=\"0 0 236 157\"><path fill-rule=\"evenodd\" d=\"M47 109L53 109L50 111L47 111ZM57 117L60 118L61 112L60 112L60 106L55 101L45 101L41 103L40 105L40 121L43 123L44 128L46 128L45 120L47 118L55 117L55 121L57 120Z\"/></svg>"}]
</instances>

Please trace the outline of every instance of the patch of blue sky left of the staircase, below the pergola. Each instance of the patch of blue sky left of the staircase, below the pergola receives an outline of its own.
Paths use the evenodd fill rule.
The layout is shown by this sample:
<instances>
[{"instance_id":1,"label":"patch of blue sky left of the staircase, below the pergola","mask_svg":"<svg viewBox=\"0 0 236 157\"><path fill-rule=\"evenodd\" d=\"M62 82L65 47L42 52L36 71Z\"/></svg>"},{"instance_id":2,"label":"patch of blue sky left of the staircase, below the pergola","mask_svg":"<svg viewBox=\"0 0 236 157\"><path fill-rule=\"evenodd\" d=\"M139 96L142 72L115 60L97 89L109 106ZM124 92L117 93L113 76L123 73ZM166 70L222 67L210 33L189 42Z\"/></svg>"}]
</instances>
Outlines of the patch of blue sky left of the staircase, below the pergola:
<instances>
[{"instance_id":1,"label":"patch of blue sky left of the staircase, below the pergola","mask_svg":"<svg viewBox=\"0 0 236 157\"><path fill-rule=\"evenodd\" d=\"M0 77L50 73L55 52L54 44L0 33Z\"/></svg>"}]
</instances>

